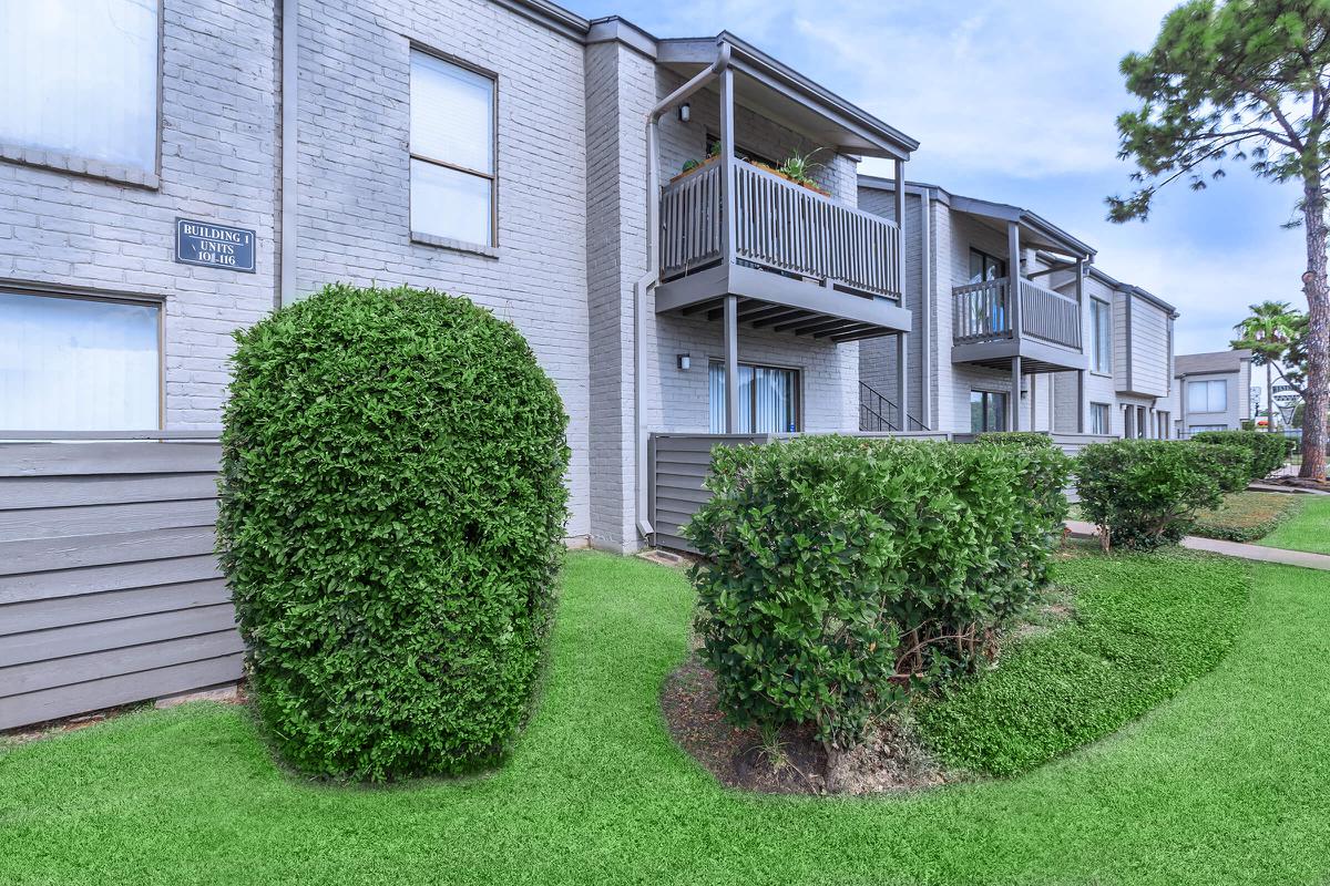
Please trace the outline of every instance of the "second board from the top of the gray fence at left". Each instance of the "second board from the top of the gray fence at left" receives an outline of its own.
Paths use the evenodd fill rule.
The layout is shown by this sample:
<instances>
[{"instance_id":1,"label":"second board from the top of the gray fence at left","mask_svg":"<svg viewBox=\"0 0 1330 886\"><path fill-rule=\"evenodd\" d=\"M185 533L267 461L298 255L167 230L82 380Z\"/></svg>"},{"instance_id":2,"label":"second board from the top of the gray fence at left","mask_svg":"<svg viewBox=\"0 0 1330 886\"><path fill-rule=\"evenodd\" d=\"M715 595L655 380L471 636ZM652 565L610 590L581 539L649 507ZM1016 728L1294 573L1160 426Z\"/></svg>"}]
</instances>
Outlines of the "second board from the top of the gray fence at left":
<instances>
[{"instance_id":1,"label":"second board from the top of the gray fence at left","mask_svg":"<svg viewBox=\"0 0 1330 886\"><path fill-rule=\"evenodd\" d=\"M3 460L0 449L0 460ZM217 474L76 474L0 477L0 511L74 505L125 505L217 495Z\"/></svg>"}]
</instances>

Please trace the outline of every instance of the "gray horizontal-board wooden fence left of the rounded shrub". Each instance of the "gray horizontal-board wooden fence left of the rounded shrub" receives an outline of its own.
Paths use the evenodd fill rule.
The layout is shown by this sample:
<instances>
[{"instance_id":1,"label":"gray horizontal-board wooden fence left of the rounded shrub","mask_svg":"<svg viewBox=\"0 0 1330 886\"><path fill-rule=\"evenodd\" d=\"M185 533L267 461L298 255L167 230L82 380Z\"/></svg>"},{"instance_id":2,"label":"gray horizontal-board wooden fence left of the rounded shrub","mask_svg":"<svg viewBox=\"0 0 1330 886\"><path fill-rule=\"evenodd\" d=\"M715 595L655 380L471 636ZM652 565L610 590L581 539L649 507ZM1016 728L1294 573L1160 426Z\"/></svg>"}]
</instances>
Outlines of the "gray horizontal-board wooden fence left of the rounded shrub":
<instances>
[{"instance_id":1,"label":"gray horizontal-board wooden fence left of the rounded shrub","mask_svg":"<svg viewBox=\"0 0 1330 886\"><path fill-rule=\"evenodd\" d=\"M241 677L215 433L152 433L0 442L0 729Z\"/></svg>"}]
</instances>

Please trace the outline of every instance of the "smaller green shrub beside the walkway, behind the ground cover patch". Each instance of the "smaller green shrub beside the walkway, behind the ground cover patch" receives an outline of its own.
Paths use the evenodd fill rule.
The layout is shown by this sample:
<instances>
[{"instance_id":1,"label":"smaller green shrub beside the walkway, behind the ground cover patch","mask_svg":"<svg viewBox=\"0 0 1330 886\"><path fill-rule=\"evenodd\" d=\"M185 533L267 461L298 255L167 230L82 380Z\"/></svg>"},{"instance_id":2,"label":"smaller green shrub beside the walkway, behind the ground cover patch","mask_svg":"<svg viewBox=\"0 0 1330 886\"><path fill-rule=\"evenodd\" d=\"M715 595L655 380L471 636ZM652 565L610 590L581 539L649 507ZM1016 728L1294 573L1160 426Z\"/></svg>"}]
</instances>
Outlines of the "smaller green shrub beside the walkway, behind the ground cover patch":
<instances>
[{"instance_id":1,"label":"smaller green shrub beside the walkway, behind the ground cover patch","mask_svg":"<svg viewBox=\"0 0 1330 886\"><path fill-rule=\"evenodd\" d=\"M1176 543L1198 509L1220 503L1222 469L1208 449L1177 440L1085 446L1076 460L1081 513L1119 547Z\"/></svg>"}]
</instances>

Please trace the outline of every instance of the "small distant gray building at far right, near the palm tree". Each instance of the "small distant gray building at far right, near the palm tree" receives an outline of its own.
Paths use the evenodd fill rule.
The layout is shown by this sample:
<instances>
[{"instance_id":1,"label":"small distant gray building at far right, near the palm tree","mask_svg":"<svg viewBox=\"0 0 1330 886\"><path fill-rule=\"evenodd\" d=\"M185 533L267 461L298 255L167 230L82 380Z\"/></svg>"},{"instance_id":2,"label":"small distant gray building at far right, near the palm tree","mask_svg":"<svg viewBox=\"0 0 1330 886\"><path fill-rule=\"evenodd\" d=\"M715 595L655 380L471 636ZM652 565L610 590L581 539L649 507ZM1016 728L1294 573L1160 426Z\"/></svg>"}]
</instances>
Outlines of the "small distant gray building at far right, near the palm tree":
<instances>
[{"instance_id":1,"label":"small distant gray building at far right, near the palm tree","mask_svg":"<svg viewBox=\"0 0 1330 886\"><path fill-rule=\"evenodd\" d=\"M1252 352L1180 353L1170 409L1178 436L1240 430L1252 418Z\"/></svg>"}]
</instances>

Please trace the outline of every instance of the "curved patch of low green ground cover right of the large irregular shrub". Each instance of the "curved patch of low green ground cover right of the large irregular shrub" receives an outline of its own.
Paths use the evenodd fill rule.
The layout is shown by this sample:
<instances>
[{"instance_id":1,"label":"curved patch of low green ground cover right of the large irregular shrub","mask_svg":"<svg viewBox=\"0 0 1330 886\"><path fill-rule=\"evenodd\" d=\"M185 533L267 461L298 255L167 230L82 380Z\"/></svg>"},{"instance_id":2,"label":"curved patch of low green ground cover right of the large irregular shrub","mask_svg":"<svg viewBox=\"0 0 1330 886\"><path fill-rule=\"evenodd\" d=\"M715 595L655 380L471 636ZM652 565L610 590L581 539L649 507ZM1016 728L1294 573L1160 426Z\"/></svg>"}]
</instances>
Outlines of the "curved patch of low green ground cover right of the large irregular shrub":
<instances>
[{"instance_id":1,"label":"curved patch of low green ground cover right of the large irregular shrub","mask_svg":"<svg viewBox=\"0 0 1330 886\"><path fill-rule=\"evenodd\" d=\"M1213 669L1248 604L1246 565L1190 551L1080 555L1057 571L1075 588L1069 623L919 707L946 762L1009 776L1117 731Z\"/></svg>"}]
</instances>

